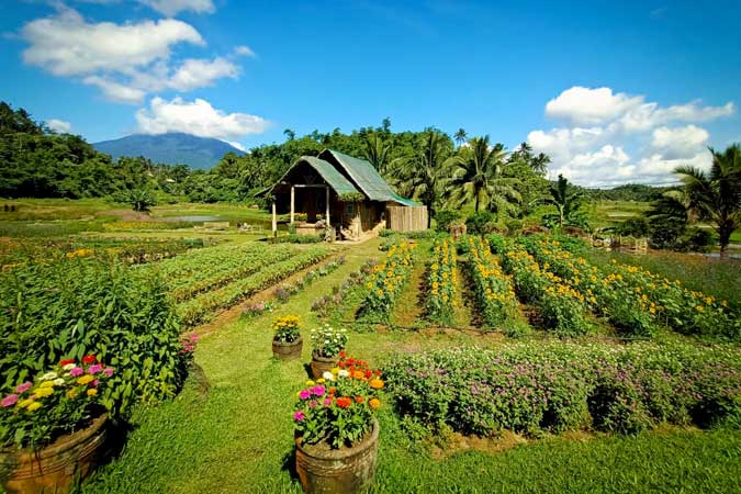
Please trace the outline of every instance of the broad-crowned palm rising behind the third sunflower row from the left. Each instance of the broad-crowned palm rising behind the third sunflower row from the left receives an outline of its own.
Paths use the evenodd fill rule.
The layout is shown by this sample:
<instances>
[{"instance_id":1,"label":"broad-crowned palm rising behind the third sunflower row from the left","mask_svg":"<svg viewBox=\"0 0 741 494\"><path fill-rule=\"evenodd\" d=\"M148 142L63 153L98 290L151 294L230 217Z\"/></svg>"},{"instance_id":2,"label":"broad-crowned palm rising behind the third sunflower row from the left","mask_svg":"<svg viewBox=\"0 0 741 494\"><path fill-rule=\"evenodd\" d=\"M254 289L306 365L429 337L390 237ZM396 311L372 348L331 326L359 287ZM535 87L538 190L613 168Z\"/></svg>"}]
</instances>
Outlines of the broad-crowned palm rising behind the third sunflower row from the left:
<instances>
[{"instance_id":1,"label":"broad-crowned palm rising behind the third sunflower row from the left","mask_svg":"<svg viewBox=\"0 0 741 494\"><path fill-rule=\"evenodd\" d=\"M472 138L469 147L451 160L451 201L458 206L473 201L476 213L481 206L514 211L521 198L515 189L518 180L502 177L505 155L501 144L490 146L489 136Z\"/></svg>"}]
</instances>

